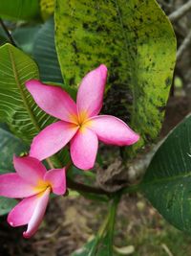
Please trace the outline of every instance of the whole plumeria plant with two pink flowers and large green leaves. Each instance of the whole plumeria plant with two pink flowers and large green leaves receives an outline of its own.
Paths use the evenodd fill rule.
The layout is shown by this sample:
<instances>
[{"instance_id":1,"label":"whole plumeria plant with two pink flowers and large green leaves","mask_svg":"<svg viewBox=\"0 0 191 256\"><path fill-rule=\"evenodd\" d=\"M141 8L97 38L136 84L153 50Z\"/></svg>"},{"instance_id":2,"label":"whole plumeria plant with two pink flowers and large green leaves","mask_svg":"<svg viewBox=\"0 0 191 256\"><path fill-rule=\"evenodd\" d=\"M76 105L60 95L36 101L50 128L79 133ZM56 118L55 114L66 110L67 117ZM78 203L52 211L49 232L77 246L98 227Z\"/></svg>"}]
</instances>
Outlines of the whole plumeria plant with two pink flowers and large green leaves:
<instances>
[{"instance_id":1,"label":"whole plumeria plant with two pink flowers and large green leaves","mask_svg":"<svg viewBox=\"0 0 191 256\"><path fill-rule=\"evenodd\" d=\"M55 0L50 12L23 6L24 20L43 13L27 43L1 20L2 214L13 227L28 225L30 238L52 194L104 201L108 214L82 252L111 256L120 198L139 191L190 232L190 117L150 156L175 65L169 20L155 0L69 2ZM5 17L19 19L11 9Z\"/></svg>"}]
</instances>

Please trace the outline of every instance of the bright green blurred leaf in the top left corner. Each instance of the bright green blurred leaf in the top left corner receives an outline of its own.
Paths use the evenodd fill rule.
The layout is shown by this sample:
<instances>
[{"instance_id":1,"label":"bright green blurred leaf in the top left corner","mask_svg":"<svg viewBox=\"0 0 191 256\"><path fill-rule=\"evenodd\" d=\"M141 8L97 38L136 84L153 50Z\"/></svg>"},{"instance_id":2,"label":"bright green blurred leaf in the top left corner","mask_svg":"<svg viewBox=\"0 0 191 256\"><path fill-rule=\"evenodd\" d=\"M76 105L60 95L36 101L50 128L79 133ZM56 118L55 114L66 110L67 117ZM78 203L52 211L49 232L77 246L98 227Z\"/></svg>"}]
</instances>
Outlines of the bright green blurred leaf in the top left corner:
<instances>
[{"instance_id":1,"label":"bright green blurred leaf in the top left corner","mask_svg":"<svg viewBox=\"0 0 191 256\"><path fill-rule=\"evenodd\" d=\"M9 20L31 20L40 14L38 0L1 0L0 17Z\"/></svg>"}]
</instances>

